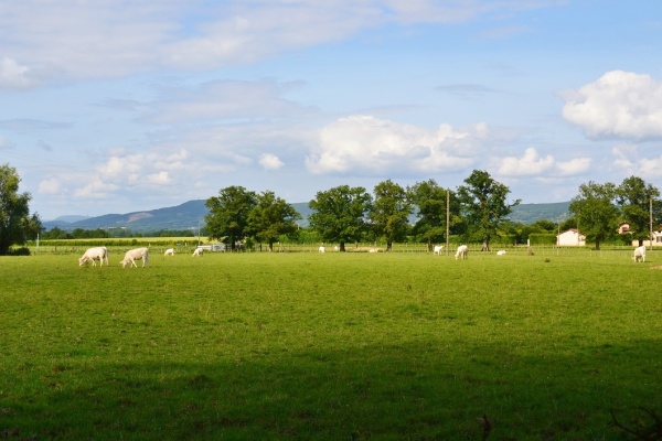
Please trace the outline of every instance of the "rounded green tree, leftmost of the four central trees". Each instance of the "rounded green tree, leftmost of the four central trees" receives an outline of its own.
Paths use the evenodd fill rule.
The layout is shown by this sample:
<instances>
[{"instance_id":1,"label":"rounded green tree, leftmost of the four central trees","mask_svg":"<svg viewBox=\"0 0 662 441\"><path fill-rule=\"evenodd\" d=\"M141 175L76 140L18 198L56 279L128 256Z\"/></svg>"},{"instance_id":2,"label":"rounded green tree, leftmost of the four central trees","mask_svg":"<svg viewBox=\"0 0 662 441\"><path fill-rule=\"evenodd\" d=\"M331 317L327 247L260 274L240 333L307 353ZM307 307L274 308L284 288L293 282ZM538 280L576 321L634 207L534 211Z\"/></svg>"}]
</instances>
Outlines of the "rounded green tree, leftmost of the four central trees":
<instances>
[{"instance_id":1,"label":"rounded green tree, leftmost of the four central trees","mask_svg":"<svg viewBox=\"0 0 662 441\"><path fill-rule=\"evenodd\" d=\"M310 228L318 232L322 240L338 243L344 251L346 243L361 240L367 230L366 214L372 201L371 194L361 186L340 185L318 192L308 203L313 212L308 217Z\"/></svg>"}]
</instances>

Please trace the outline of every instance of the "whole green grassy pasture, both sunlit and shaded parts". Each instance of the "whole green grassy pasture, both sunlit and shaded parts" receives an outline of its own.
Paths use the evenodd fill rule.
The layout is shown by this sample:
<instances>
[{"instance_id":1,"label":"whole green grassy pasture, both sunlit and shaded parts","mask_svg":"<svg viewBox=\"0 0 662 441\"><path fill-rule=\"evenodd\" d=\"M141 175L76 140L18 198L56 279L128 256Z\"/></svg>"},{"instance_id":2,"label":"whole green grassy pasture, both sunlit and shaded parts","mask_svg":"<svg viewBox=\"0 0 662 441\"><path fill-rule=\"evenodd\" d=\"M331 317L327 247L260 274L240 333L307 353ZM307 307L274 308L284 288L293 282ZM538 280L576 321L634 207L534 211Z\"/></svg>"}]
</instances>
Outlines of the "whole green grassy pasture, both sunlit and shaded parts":
<instances>
[{"instance_id":1,"label":"whole green grassy pasture, both sunlit and shaded parts","mask_svg":"<svg viewBox=\"0 0 662 441\"><path fill-rule=\"evenodd\" d=\"M618 440L662 413L659 252L0 257L0 438Z\"/></svg>"}]
</instances>

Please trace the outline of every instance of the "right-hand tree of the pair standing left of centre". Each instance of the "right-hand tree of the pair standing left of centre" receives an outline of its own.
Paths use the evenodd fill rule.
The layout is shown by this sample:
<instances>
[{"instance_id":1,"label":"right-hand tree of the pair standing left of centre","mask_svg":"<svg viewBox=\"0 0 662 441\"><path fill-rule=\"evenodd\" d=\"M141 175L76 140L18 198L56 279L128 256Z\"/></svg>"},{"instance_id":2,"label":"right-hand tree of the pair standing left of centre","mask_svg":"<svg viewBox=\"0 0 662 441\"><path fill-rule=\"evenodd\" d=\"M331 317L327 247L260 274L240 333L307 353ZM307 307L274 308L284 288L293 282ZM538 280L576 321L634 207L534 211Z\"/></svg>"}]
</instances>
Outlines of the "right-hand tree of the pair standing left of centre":
<instances>
[{"instance_id":1,"label":"right-hand tree of the pair standing left of centre","mask_svg":"<svg viewBox=\"0 0 662 441\"><path fill-rule=\"evenodd\" d=\"M301 215L274 192L263 192L256 196L257 204L248 213L248 233L260 244L266 243L269 251L278 236L292 236L297 232L297 220Z\"/></svg>"}]
</instances>

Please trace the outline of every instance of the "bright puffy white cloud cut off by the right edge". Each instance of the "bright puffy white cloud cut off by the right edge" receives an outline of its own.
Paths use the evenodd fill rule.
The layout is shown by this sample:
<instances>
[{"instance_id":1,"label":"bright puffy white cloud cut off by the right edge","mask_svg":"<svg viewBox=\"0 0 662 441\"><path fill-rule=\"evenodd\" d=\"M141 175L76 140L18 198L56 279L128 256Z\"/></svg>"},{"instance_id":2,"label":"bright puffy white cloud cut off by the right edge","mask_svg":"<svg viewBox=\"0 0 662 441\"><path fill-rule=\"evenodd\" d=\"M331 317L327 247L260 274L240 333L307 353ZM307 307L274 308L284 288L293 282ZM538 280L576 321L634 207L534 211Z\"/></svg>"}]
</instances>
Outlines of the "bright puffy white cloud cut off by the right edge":
<instances>
[{"instance_id":1,"label":"bright puffy white cloud cut off by the right edge","mask_svg":"<svg viewBox=\"0 0 662 441\"><path fill-rule=\"evenodd\" d=\"M563 116L590 138L662 138L662 82L612 71L567 94Z\"/></svg>"}]
</instances>

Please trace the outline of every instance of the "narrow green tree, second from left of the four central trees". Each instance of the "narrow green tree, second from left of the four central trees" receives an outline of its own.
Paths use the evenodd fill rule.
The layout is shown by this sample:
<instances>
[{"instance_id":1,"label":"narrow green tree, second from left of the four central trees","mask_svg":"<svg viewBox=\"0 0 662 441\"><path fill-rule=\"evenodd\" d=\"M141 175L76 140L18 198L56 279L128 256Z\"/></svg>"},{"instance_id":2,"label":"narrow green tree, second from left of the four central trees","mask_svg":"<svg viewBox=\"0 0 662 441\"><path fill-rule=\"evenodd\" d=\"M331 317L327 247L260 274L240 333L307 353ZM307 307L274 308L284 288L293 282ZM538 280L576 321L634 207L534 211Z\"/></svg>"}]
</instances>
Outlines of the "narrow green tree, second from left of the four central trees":
<instances>
[{"instance_id":1,"label":"narrow green tree, second from left of the four central trees","mask_svg":"<svg viewBox=\"0 0 662 441\"><path fill-rule=\"evenodd\" d=\"M375 186L374 197L370 220L375 235L386 240L386 251L391 251L393 243L404 240L410 230L413 205L405 189L391 180Z\"/></svg>"}]
</instances>

